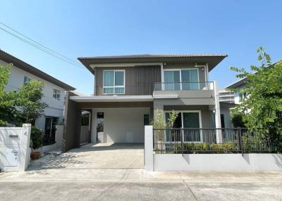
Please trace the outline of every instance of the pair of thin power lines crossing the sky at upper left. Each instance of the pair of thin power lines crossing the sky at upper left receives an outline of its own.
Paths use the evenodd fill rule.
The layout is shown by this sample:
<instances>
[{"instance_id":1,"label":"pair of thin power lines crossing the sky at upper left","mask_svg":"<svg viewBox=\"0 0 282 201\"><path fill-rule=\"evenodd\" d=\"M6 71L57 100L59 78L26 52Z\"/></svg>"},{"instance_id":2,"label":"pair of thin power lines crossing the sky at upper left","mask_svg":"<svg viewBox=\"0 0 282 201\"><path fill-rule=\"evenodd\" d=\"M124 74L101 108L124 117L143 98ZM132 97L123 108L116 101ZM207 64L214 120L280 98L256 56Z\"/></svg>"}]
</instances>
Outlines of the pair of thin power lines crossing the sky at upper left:
<instances>
[{"instance_id":1,"label":"pair of thin power lines crossing the sky at upper left","mask_svg":"<svg viewBox=\"0 0 282 201\"><path fill-rule=\"evenodd\" d=\"M1 25L4 25L2 22L0 22ZM8 27L7 25L4 25L6 27ZM11 27L8 27L9 29L13 30ZM29 37L26 37L23 34L20 34L20 32L17 32L16 30L13 30L14 32L22 35L23 37L25 37L26 39L24 39L23 37L18 36L17 34L14 34L12 32L9 32L8 30L4 29L3 27L0 27L0 30L3 30L4 32L11 34L13 37L16 37L17 39L20 39L21 41L24 41L27 44L30 44L31 46L34 46L35 48L38 48L41 51L44 51L45 53L48 53L51 56L54 56L60 60L65 61L66 63L69 63L71 65L75 65L77 67L81 67L83 69L85 69L85 67L82 67L80 63L78 63L76 60L73 60L71 58L68 58L66 56L63 56L61 53L58 53L56 51L51 50L51 48L47 48L46 46L39 44L37 41L34 41L32 39L30 39ZM30 41L28 41L28 40Z\"/></svg>"}]
</instances>

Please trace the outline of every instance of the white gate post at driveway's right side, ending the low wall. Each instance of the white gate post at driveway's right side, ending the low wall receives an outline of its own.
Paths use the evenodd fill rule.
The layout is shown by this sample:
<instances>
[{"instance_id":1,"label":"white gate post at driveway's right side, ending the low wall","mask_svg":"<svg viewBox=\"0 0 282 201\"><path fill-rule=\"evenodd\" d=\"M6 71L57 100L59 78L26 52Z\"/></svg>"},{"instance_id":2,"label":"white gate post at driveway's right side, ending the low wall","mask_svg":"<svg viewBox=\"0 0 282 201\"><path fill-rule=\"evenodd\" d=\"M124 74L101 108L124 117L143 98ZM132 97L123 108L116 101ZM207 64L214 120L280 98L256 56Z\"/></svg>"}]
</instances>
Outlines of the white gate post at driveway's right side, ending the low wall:
<instances>
[{"instance_id":1,"label":"white gate post at driveway's right side, ending the low wall","mask_svg":"<svg viewBox=\"0 0 282 201\"><path fill-rule=\"evenodd\" d=\"M153 126L145 126L144 162L146 171L154 171Z\"/></svg>"}]
</instances>

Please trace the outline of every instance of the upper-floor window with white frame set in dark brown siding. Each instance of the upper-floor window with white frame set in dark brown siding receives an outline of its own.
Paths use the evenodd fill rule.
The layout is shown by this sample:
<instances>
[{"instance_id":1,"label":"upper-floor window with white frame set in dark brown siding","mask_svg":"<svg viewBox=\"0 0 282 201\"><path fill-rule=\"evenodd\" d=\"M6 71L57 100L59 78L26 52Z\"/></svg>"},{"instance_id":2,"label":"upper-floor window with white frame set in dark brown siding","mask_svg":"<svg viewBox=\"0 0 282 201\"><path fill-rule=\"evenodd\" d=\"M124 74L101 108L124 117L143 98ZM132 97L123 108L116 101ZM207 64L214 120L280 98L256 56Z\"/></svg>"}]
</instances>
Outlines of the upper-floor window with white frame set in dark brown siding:
<instances>
[{"instance_id":1,"label":"upper-floor window with white frame set in dark brown siding","mask_svg":"<svg viewBox=\"0 0 282 201\"><path fill-rule=\"evenodd\" d=\"M104 70L103 93L124 94L125 70Z\"/></svg>"}]
</instances>

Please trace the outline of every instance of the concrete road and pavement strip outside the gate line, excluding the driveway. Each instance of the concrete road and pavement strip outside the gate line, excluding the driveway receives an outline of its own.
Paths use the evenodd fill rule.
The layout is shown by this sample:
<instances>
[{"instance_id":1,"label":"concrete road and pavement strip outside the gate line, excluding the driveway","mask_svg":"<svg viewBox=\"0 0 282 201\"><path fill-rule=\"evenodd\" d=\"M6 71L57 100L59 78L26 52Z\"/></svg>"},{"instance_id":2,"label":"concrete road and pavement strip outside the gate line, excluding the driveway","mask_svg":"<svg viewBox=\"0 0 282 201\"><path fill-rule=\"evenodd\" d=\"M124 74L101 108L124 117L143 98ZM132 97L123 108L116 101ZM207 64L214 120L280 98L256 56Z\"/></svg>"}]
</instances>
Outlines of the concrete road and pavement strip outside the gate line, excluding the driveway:
<instances>
[{"instance_id":1,"label":"concrete road and pavement strip outside the gate line, excluding the driveway","mask_svg":"<svg viewBox=\"0 0 282 201\"><path fill-rule=\"evenodd\" d=\"M0 200L282 200L275 172L47 169L0 174Z\"/></svg>"}]
</instances>

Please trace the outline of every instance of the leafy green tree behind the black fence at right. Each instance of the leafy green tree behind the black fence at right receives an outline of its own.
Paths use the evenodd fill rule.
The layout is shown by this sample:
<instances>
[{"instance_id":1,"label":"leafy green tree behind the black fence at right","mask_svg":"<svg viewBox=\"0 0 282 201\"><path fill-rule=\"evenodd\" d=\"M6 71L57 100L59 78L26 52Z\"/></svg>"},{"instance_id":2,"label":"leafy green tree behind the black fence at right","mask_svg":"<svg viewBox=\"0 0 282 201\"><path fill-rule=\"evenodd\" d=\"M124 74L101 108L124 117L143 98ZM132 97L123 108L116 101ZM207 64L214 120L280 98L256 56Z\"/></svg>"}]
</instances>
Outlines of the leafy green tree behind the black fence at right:
<instances>
[{"instance_id":1,"label":"leafy green tree behind the black fence at right","mask_svg":"<svg viewBox=\"0 0 282 201\"><path fill-rule=\"evenodd\" d=\"M237 77L247 78L244 89L233 91L246 93L247 98L237 105L235 113L243 115L243 122L251 130L263 131L272 136L282 135L282 61L271 64L264 48L257 49L260 66L252 65L252 72L231 67Z\"/></svg>"}]
</instances>

